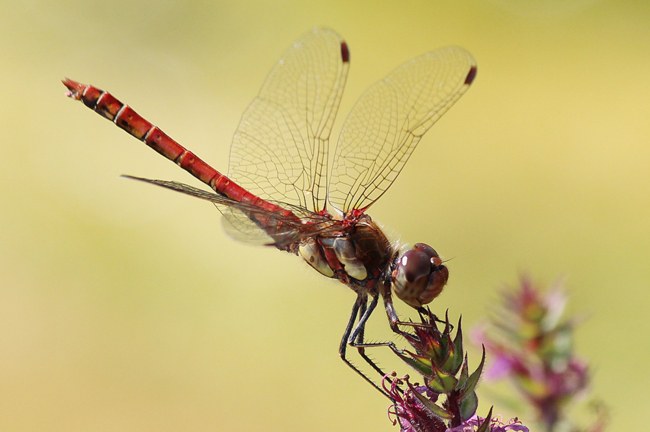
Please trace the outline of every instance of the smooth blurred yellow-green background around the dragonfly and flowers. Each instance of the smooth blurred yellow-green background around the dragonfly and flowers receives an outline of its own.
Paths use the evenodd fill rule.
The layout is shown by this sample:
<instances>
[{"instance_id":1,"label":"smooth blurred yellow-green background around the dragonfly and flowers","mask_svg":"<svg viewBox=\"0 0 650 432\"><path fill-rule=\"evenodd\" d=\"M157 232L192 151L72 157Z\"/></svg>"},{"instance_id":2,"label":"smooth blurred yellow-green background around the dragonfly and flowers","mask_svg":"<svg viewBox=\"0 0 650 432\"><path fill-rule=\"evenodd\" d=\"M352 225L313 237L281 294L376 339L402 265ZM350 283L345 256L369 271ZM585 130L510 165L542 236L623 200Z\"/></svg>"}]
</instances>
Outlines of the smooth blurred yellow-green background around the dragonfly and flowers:
<instances>
[{"instance_id":1,"label":"smooth blurred yellow-green background around the dragonfly and flowers","mask_svg":"<svg viewBox=\"0 0 650 432\"><path fill-rule=\"evenodd\" d=\"M317 25L350 46L341 117L416 55L473 53L474 85L371 214L452 258L433 306L466 328L521 273L565 278L610 430L645 424L647 2L4 0L0 430L396 430L337 355L354 295L230 240L209 204L120 178L196 185L59 82L111 91L225 170L266 74ZM369 335L390 336L382 312Z\"/></svg>"}]
</instances>

